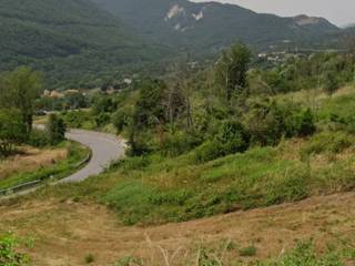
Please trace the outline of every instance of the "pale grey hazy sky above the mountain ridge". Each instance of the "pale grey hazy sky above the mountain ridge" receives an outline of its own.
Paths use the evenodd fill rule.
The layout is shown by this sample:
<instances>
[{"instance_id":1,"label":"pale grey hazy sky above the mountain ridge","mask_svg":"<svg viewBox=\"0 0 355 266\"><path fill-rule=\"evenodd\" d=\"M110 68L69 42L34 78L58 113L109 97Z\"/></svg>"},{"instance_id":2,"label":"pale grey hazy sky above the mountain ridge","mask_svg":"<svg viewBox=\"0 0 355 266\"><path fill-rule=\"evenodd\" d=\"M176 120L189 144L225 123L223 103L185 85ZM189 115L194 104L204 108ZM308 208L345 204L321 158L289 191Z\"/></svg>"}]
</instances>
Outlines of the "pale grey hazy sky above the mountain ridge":
<instances>
[{"instance_id":1,"label":"pale grey hazy sky above the mountain ridge","mask_svg":"<svg viewBox=\"0 0 355 266\"><path fill-rule=\"evenodd\" d=\"M206 0L192 0L205 2ZM355 0L214 0L236 3L256 12L278 16L308 14L323 17L342 27L355 23Z\"/></svg>"}]
</instances>

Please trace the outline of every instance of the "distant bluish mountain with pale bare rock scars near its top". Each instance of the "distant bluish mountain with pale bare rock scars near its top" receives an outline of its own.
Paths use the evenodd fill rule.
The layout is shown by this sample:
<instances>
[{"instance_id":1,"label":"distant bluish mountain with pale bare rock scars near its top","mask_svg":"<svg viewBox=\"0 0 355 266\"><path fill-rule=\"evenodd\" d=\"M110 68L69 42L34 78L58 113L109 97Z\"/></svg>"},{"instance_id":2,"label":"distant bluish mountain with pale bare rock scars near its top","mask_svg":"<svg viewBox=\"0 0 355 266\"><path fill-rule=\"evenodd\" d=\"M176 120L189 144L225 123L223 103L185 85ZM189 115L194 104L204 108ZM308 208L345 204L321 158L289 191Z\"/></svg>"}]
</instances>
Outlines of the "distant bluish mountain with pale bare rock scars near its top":
<instances>
[{"instance_id":1,"label":"distant bluish mountain with pale bare rock scars near its top","mask_svg":"<svg viewBox=\"0 0 355 266\"><path fill-rule=\"evenodd\" d=\"M293 47L320 47L339 31L322 18L281 18L235 4L187 0L92 1L122 18L145 38L200 52L219 50L235 41L244 41L257 49L290 45L290 41Z\"/></svg>"}]
</instances>

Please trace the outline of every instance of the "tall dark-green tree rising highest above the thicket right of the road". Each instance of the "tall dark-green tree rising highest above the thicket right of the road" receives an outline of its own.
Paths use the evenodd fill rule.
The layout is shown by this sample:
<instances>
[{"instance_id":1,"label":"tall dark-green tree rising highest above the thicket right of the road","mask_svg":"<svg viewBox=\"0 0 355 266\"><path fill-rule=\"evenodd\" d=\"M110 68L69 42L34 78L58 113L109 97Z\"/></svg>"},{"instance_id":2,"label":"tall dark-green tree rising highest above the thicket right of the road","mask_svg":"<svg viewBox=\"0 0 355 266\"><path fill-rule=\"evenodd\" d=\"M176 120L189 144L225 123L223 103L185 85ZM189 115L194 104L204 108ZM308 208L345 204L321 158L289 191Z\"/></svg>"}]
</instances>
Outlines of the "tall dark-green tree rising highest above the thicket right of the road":
<instances>
[{"instance_id":1,"label":"tall dark-green tree rising highest above the thicket right of the road","mask_svg":"<svg viewBox=\"0 0 355 266\"><path fill-rule=\"evenodd\" d=\"M227 101L234 94L246 92L246 73L252 52L244 44L235 44L229 51L223 51L215 68L215 80L224 90Z\"/></svg>"}]
</instances>

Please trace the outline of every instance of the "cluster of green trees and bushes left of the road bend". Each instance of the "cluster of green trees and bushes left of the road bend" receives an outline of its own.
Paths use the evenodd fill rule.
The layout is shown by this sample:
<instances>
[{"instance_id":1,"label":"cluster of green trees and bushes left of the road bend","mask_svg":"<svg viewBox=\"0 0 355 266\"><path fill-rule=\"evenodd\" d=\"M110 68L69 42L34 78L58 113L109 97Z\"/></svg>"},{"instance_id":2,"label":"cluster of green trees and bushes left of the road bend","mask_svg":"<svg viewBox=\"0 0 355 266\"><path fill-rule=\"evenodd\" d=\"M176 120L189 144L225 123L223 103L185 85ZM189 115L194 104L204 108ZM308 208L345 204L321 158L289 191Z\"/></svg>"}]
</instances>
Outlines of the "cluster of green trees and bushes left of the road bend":
<instances>
[{"instance_id":1,"label":"cluster of green trees and bushes left of the road bend","mask_svg":"<svg viewBox=\"0 0 355 266\"><path fill-rule=\"evenodd\" d=\"M34 101L41 92L41 73L29 68L0 75L0 156L21 144L44 146L64 139L65 125L57 115L50 116L45 132L33 129Z\"/></svg>"}]
</instances>

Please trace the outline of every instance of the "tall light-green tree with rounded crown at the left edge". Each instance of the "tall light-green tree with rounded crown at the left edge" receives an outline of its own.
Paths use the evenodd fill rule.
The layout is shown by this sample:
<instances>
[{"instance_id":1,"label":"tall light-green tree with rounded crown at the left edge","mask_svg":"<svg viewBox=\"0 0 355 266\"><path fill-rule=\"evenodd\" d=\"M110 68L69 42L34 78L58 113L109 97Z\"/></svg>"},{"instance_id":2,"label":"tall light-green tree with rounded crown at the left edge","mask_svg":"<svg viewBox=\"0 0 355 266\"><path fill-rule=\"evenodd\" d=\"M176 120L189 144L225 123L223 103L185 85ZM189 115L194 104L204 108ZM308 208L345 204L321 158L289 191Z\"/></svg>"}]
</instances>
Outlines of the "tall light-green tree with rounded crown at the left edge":
<instances>
[{"instance_id":1,"label":"tall light-green tree with rounded crown at the left edge","mask_svg":"<svg viewBox=\"0 0 355 266\"><path fill-rule=\"evenodd\" d=\"M0 106L19 109L27 136L32 130L34 100L40 95L41 89L41 74L27 66L4 73L0 80Z\"/></svg>"}]
</instances>

